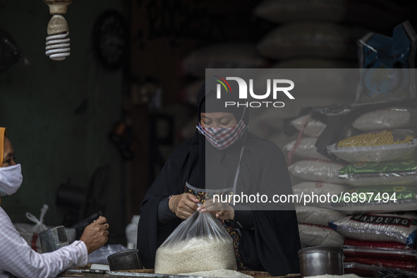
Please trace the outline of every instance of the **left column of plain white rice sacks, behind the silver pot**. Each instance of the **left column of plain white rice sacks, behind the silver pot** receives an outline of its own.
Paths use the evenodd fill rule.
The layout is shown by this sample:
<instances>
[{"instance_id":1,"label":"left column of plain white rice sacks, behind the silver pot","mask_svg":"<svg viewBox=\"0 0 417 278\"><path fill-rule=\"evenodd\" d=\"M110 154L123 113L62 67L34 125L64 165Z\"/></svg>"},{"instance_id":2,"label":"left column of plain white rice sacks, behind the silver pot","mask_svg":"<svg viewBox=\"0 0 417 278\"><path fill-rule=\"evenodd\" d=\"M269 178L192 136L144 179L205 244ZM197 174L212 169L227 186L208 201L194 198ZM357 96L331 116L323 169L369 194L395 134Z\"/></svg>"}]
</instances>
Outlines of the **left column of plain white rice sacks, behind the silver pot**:
<instances>
[{"instance_id":1,"label":"left column of plain white rice sacks, behind the silver pot","mask_svg":"<svg viewBox=\"0 0 417 278\"><path fill-rule=\"evenodd\" d=\"M333 210L331 204L325 200L308 200L305 205L303 198L312 194L339 195L348 191L351 186L343 183L337 175L337 171L345 164L333 162L316 150L315 143L324 130L325 123L300 116L291 121L291 125L305 136L298 136L296 140L283 147L293 183L293 193L301 199L301 203L296 204L301 246L341 247L344 236L331 229L328 223L342 219L346 214Z\"/></svg>"}]
</instances>

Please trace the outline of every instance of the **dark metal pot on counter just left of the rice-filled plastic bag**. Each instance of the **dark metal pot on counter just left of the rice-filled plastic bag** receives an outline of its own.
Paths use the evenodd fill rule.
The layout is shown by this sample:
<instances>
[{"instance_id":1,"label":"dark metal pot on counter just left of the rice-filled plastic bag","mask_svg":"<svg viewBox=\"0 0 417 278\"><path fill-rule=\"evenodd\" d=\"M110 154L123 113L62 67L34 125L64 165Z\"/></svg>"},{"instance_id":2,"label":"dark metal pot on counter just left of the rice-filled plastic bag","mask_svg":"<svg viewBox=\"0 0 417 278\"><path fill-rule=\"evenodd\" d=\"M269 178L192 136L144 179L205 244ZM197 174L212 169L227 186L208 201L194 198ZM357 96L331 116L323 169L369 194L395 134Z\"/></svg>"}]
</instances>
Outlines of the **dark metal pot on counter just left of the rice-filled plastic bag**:
<instances>
[{"instance_id":1,"label":"dark metal pot on counter just left of the rice-filled plastic bag","mask_svg":"<svg viewBox=\"0 0 417 278\"><path fill-rule=\"evenodd\" d=\"M139 250L123 250L107 257L110 270L140 270L142 261L140 260Z\"/></svg>"}]
</instances>

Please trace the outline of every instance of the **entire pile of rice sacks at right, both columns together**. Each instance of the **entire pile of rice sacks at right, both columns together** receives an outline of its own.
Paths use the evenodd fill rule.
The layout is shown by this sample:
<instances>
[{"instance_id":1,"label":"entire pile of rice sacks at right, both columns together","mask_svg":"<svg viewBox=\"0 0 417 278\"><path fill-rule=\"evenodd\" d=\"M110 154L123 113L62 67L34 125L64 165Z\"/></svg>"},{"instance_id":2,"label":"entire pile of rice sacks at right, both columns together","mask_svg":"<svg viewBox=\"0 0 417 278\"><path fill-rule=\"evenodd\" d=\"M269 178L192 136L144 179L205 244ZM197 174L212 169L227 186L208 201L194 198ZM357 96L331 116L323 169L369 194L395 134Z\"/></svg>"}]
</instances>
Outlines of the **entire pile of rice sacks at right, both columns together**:
<instances>
[{"instance_id":1,"label":"entire pile of rice sacks at right, both columns together","mask_svg":"<svg viewBox=\"0 0 417 278\"><path fill-rule=\"evenodd\" d=\"M416 111L385 107L361 114L344 139L327 146L329 156L315 147L325 123L309 119L301 124L301 117L291 121L305 136L284 147L291 177L305 180L294 184L293 193L346 196L337 203L296 208L303 247L337 246L319 241L329 237L327 222L344 240L345 273L372 277L376 272L417 271ZM322 225L322 231L308 225Z\"/></svg>"}]
</instances>

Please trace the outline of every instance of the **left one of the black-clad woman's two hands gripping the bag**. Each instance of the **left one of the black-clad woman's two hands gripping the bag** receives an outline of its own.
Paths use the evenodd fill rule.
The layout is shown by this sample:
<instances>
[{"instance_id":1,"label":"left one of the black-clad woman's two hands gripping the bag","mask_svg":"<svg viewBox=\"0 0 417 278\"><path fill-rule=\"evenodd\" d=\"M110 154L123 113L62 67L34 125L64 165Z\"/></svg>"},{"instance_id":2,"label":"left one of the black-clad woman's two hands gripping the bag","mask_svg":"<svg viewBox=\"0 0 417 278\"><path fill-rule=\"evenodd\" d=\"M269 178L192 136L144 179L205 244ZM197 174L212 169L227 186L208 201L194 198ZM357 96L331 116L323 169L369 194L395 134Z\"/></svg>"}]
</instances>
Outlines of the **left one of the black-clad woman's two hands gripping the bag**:
<instances>
[{"instance_id":1,"label":"left one of the black-clad woman's two hands gripping the bag","mask_svg":"<svg viewBox=\"0 0 417 278\"><path fill-rule=\"evenodd\" d=\"M197 210L197 203L200 203L200 200L198 200L195 195L182 193L172 196L169 199L168 206L169 210L174 212L177 217L187 219L195 212L195 210Z\"/></svg>"}]
</instances>

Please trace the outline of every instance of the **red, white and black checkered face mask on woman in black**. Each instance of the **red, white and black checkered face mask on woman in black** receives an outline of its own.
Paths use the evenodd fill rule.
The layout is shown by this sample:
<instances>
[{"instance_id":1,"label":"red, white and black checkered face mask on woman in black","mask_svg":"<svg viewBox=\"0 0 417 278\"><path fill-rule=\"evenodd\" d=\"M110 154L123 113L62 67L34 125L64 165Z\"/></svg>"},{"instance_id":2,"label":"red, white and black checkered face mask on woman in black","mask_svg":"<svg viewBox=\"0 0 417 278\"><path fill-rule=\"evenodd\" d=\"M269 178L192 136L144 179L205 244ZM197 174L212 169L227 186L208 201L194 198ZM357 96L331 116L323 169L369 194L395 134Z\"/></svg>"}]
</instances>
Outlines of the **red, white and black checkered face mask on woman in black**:
<instances>
[{"instance_id":1,"label":"red, white and black checkered face mask on woman in black","mask_svg":"<svg viewBox=\"0 0 417 278\"><path fill-rule=\"evenodd\" d=\"M198 132L205 135L205 138L215 147L217 150L224 150L226 147L233 145L246 131L246 124L241 121L232 126L231 128L205 128L198 123Z\"/></svg>"}]
</instances>

